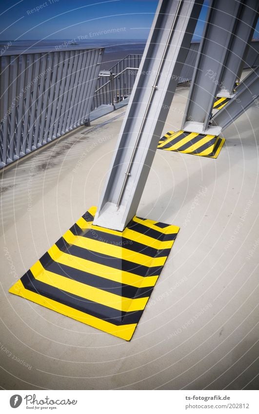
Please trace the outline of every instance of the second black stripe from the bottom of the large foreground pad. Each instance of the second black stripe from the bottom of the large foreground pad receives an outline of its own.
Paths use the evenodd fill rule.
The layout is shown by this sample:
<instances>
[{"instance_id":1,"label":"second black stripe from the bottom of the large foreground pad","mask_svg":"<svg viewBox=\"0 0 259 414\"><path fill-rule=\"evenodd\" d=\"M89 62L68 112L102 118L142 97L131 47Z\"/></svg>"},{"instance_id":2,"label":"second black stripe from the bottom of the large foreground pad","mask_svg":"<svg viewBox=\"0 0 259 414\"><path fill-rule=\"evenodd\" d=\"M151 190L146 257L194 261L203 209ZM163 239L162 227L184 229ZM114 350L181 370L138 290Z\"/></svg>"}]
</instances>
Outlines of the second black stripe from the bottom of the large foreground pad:
<instances>
[{"instance_id":1,"label":"second black stripe from the bottom of the large foreground pad","mask_svg":"<svg viewBox=\"0 0 259 414\"><path fill-rule=\"evenodd\" d=\"M153 290L153 286L149 288L137 288L134 286L115 282L110 279L105 279L104 277L92 275L91 273L83 272L82 270L75 269L74 267L55 262L52 260L48 253L46 253L46 255L48 255L48 257L44 255L45 259L40 259L40 263L45 270L48 270L49 272L53 272L60 276L67 277L77 282L102 289L115 295L134 299L137 297L150 296Z\"/></svg>"}]
</instances>

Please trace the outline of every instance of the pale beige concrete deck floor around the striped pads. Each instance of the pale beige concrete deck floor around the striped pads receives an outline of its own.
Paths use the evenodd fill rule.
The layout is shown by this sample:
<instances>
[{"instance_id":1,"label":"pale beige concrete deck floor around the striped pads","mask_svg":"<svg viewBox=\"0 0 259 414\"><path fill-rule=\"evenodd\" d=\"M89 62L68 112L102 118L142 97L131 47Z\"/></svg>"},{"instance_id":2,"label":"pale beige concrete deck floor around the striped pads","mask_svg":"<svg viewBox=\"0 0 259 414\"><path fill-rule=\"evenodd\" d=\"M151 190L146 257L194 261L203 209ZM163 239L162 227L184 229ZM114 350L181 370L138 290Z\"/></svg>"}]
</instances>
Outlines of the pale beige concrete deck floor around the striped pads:
<instances>
[{"instance_id":1,"label":"pale beige concrete deck floor around the striped pads","mask_svg":"<svg viewBox=\"0 0 259 414\"><path fill-rule=\"evenodd\" d=\"M179 129L187 93L178 88L164 132ZM77 129L2 175L0 385L256 389L256 106L225 131L216 160L157 151L138 215L181 229L131 342L8 293L97 205L124 111L92 122L90 128L117 117L92 132Z\"/></svg>"}]
</instances>

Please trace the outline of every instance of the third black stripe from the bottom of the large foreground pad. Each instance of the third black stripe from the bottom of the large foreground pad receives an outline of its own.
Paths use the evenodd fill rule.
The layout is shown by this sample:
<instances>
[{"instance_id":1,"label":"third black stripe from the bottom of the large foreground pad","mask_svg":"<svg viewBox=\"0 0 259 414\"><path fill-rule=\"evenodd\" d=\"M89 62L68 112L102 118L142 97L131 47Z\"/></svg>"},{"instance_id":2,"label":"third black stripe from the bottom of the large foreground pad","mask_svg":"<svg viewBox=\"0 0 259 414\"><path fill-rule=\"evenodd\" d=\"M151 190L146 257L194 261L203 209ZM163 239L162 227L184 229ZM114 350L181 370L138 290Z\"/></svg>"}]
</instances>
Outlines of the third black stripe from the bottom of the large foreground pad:
<instances>
[{"instance_id":1,"label":"third black stripe from the bottom of the large foreground pad","mask_svg":"<svg viewBox=\"0 0 259 414\"><path fill-rule=\"evenodd\" d=\"M121 258L104 255L103 253L97 253L97 252L93 252L92 250L88 250L82 247L71 245L67 243L63 237L60 237L60 239L56 242L56 246L58 246L58 248L61 251L63 251L64 253L68 253L69 255L80 257L86 260L90 260L94 263L99 263L105 266L109 266L113 269L119 269L124 272L134 273L135 275L138 275L138 276L143 276L143 277L146 276L147 272L150 269L148 266L137 264L129 260L124 260ZM151 270L152 270L152 274L154 275L159 275L161 271L160 266L154 266L154 267L152 266Z\"/></svg>"}]
</instances>

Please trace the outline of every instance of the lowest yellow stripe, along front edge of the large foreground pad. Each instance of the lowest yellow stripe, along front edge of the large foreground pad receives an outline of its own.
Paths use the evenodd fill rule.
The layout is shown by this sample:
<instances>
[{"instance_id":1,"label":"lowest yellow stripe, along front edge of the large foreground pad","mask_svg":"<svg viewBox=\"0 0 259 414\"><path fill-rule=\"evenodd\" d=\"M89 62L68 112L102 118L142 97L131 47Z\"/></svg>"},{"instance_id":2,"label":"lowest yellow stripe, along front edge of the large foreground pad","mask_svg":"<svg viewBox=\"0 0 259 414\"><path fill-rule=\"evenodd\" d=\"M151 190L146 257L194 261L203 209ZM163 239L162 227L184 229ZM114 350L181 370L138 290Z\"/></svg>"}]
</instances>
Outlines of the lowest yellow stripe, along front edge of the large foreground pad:
<instances>
[{"instance_id":1,"label":"lowest yellow stripe, along front edge of the large foreground pad","mask_svg":"<svg viewBox=\"0 0 259 414\"><path fill-rule=\"evenodd\" d=\"M84 312L70 308L67 305L63 305L56 300L48 299L44 296L25 289L20 280L18 280L18 282L16 282L11 287L9 292L31 300L32 302L38 303L39 305L51 309L52 311L56 311L62 315L71 317L94 328L100 329L101 331L107 332L108 334L118 336L119 338L125 339L127 341L131 339L137 326L137 323L117 326L113 323L101 320L95 316L85 314Z\"/></svg>"}]
</instances>

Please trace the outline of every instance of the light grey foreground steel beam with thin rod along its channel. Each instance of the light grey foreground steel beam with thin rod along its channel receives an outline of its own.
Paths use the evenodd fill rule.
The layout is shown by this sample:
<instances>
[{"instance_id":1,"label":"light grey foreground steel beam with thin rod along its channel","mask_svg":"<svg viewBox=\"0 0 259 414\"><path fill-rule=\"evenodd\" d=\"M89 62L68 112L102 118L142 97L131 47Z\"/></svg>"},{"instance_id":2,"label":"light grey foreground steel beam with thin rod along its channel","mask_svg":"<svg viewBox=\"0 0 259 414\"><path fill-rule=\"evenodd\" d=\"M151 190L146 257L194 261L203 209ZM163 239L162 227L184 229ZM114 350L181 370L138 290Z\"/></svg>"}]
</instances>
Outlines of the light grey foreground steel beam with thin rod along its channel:
<instances>
[{"instance_id":1,"label":"light grey foreground steel beam with thin rod along its channel","mask_svg":"<svg viewBox=\"0 0 259 414\"><path fill-rule=\"evenodd\" d=\"M136 214L202 3L159 1L95 225L122 231Z\"/></svg>"}]
</instances>

